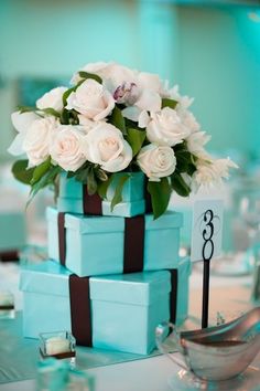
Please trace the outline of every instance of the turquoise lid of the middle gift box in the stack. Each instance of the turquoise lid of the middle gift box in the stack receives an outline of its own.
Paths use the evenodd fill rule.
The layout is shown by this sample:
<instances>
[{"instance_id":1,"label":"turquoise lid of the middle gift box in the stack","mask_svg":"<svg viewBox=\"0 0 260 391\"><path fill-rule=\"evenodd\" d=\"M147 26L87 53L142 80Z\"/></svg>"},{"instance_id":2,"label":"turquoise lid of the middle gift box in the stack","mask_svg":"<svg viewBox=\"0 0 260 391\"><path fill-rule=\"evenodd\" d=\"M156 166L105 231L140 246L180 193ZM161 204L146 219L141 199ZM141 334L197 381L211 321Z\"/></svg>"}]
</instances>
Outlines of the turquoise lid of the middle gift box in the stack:
<instances>
[{"instance_id":1,"label":"turquoise lid of the middle gift box in the stack","mask_svg":"<svg viewBox=\"0 0 260 391\"><path fill-rule=\"evenodd\" d=\"M129 219L129 218L126 218ZM182 213L167 212L154 220L152 214L145 214L145 230L165 230L180 228L183 223ZM120 216L83 216L67 213L65 228L87 232L118 232L124 230L124 218Z\"/></svg>"}]
</instances>

